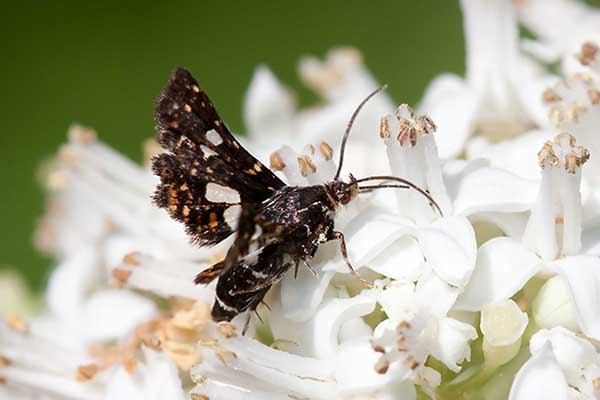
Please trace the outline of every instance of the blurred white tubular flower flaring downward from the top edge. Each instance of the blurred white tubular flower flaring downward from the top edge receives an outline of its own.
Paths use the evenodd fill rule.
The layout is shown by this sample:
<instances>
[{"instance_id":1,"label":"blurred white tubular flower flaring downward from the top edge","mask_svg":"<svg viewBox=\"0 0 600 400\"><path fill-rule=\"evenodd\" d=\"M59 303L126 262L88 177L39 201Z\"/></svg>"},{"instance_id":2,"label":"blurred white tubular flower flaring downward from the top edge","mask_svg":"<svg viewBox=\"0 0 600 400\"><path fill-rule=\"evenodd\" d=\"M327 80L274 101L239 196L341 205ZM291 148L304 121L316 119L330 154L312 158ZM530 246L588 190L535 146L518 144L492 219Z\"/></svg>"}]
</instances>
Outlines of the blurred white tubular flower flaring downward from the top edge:
<instances>
[{"instance_id":1,"label":"blurred white tubular flower flaring downward from the top edge","mask_svg":"<svg viewBox=\"0 0 600 400\"><path fill-rule=\"evenodd\" d=\"M547 125L538 96L545 74L518 48L512 2L462 0L467 72L434 79L421 109L437 121L442 158L459 155L469 136L498 141Z\"/></svg>"}]
</instances>

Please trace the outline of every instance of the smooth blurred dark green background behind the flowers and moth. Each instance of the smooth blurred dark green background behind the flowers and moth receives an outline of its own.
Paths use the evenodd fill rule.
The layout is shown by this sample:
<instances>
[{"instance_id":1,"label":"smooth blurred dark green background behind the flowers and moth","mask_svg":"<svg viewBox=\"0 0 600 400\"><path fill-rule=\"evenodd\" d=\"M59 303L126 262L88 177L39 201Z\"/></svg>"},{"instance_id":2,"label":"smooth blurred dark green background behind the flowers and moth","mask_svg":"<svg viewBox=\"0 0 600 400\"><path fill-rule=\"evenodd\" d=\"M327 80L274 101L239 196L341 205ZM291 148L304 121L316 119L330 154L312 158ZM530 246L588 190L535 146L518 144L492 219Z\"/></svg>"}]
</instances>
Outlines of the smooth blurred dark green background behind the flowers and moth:
<instances>
[{"instance_id":1,"label":"smooth blurred dark green background behind the flowers and moth","mask_svg":"<svg viewBox=\"0 0 600 400\"><path fill-rule=\"evenodd\" d=\"M296 75L305 54L352 45L397 101L415 103L442 71L462 73L457 2L81 2L3 5L0 24L0 265L40 287L53 261L32 244L44 212L40 163L80 122L135 160L153 135L154 97L185 66L235 131L253 69L269 65L315 100ZM85 223L85 221L82 221Z\"/></svg>"}]
</instances>

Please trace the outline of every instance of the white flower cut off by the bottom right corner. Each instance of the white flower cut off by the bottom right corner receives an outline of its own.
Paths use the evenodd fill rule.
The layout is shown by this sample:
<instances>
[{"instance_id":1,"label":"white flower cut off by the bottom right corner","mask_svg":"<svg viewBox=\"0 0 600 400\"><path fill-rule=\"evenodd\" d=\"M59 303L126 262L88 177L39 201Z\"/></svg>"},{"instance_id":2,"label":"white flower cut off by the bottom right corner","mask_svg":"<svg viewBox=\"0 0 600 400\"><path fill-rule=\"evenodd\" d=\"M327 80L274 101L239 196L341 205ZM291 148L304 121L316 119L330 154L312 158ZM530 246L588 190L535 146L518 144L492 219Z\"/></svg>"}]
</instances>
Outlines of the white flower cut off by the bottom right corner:
<instances>
[{"instance_id":1,"label":"white flower cut off by the bottom right corner","mask_svg":"<svg viewBox=\"0 0 600 400\"><path fill-rule=\"evenodd\" d=\"M559 327L537 332L529 348L532 357L517 373L510 400L600 396L600 355L590 342Z\"/></svg>"}]
</instances>

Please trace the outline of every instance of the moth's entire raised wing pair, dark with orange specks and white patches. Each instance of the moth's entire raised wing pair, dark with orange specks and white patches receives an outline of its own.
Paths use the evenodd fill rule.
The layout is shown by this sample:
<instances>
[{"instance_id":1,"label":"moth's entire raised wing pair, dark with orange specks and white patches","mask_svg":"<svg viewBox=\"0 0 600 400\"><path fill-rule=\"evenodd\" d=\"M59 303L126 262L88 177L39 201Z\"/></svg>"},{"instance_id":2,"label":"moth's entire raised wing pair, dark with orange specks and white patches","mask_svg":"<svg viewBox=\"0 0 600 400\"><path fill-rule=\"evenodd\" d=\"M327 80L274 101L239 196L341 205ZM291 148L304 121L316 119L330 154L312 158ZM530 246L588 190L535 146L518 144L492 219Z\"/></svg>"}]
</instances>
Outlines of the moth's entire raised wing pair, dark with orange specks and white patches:
<instances>
[{"instance_id":1,"label":"moth's entire raised wing pair, dark with orange specks and white patches","mask_svg":"<svg viewBox=\"0 0 600 400\"><path fill-rule=\"evenodd\" d=\"M182 68L157 99L155 122L158 141L169 151L153 160L161 180L155 203L183 222L199 245L224 240L235 230L242 205L285 186L241 147Z\"/></svg>"}]
</instances>

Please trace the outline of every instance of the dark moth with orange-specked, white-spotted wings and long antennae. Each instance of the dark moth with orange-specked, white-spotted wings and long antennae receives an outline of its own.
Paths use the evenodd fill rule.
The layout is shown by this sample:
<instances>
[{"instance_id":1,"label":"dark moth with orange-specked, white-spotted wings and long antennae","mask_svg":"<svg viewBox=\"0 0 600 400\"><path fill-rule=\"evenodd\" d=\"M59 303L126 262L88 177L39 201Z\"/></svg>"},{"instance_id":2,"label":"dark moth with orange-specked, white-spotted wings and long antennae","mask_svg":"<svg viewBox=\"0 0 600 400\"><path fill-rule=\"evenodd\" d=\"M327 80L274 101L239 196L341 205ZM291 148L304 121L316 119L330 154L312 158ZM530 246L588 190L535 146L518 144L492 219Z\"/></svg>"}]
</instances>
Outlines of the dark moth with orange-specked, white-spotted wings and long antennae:
<instances>
[{"instance_id":1,"label":"dark moth with orange-specked, white-spotted wings and long antennae","mask_svg":"<svg viewBox=\"0 0 600 400\"><path fill-rule=\"evenodd\" d=\"M344 234L334 225L340 207L360 193L412 188L441 213L428 193L404 179L352 175L349 182L340 179L352 123L378 91L351 116L334 178L322 185L288 186L233 137L192 75L175 69L156 100L157 138L166 152L153 159L153 171L160 177L154 202L185 224L191 240L200 246L217 244L235 233L224 260L195 279L208 284L218 278L214 321L255 311L271 286L290 268L297 272L327 241L339 241L350 272L362 280L348 259ZM365 184L368 181L380 184ZM390 181L395 183L385 183Z\"/></svg>"}]
</instances>

